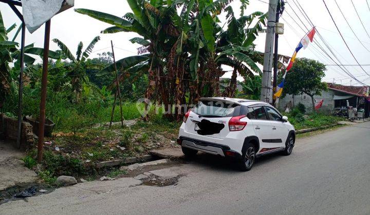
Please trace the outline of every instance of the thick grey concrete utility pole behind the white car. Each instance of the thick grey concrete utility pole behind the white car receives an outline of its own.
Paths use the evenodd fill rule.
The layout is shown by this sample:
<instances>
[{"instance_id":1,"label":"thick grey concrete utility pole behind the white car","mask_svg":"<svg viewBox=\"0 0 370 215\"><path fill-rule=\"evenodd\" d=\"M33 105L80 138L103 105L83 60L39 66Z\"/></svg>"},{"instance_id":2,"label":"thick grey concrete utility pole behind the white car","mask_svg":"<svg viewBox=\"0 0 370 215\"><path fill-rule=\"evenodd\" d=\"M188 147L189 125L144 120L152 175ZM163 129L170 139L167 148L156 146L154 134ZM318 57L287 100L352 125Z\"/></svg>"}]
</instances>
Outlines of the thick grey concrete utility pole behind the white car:
<instances>
[{"instance_id":1,"label":"thick grey concrete utility pole behind the white car","mask_svg":"<svg viewBox=\"0 0 370 215\"><path fill-rule=\"evenodd\" d=\"M264 66L262 76L262 89L261 89L261 101L265 101L268 103L272 102L271 69L272 69L272 55L274 47L275 18L277 6L278 0L269 0Z\"/></svg>"}]
</instances>

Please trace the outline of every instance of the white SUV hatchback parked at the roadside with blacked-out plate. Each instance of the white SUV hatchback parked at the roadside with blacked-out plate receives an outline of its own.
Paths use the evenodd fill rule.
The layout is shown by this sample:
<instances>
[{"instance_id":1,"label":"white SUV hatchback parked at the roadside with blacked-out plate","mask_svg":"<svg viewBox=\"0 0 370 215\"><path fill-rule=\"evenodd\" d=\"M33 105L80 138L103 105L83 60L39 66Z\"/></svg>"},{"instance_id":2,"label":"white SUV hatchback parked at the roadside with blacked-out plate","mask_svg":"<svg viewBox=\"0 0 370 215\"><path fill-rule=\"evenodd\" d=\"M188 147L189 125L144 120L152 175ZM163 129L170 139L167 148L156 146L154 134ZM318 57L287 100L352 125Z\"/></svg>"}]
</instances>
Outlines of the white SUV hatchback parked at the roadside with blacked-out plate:
<instances>
[{"instance_id":1,"label":"white SUV hatchback parked at the roadside with blacked-out plate","mask_svg":"<svg viewBox=\"0 0 370 215\"><path fill-rule=\"evenodd\" d=\"M224 97L200 99L185 114L177 139L186 156L201 151L233 157L245 171L259 156L290 155L294 141L293 125L270 104Z\"/></svg>"}]
</instances>

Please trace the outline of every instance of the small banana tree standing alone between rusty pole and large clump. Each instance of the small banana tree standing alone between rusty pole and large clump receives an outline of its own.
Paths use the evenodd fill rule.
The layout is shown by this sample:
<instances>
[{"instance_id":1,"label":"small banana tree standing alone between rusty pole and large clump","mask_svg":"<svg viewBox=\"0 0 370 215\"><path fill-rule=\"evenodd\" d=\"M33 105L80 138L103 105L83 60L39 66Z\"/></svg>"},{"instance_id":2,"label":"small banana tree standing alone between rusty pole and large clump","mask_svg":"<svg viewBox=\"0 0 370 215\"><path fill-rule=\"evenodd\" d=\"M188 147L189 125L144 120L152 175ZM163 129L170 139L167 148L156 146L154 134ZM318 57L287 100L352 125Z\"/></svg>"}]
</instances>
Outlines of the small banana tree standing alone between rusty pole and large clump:
<instances>
[{"instance_id":1,"label":"small banana tree standing alone between rusty pole and large clump","mask_svg":"<svg viewBox=\"0 0 370 215\"><path fill-rule=\"evenodd\" d=\"M62 41L56 38L52 40L60 48L58 52L63 55L62 57L68 58L70 60L70 63L67 63L66 65L64 65L64 67L66 68L66 71L69 71L66 74L66 77L71 78L72 89L73 92L76 94L76 102L80 101L83 87L95 88L95 86L93 86L94 84L89 82L88 80L88 76L86 75L86 69L100 70L102 69L102 66L97 63L87 62L86 59L89 57L89 55L94 49L94 46L97 44L99 40L100 36L96 36L93 40L91 40L90 44L83 52L82 52L83 43L81 41L77 46L76 56L73 56L71 51Z\"/></svg>"}]
</instances>

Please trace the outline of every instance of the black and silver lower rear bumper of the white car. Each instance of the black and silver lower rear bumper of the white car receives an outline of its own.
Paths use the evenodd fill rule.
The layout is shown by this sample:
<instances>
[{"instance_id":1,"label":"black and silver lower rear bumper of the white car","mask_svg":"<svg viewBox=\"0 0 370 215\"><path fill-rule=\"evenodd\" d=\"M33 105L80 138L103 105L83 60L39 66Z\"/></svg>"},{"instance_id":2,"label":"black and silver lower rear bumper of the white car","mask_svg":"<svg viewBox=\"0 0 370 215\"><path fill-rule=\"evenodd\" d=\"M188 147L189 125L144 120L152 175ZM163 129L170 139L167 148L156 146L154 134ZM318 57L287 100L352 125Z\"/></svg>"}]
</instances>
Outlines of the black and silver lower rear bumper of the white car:
<instances>
[{"instance_id":1,"label":"black and silver lower rear bumper of the white car","mask_svg":"<svg viewBox=\"0 0 370 215\"><path fill-rule=\"evenodd\" d=\"M207 141L196 140L182 136L179 137L177 142L182 147L191 148L212 155L220 155L222 157L235 157L235 158L242 157L241 154L235 152L234 150L231 150L230 147L227 145L221 145L217 143L211 143Z\"/></svg>"}]
</instances>

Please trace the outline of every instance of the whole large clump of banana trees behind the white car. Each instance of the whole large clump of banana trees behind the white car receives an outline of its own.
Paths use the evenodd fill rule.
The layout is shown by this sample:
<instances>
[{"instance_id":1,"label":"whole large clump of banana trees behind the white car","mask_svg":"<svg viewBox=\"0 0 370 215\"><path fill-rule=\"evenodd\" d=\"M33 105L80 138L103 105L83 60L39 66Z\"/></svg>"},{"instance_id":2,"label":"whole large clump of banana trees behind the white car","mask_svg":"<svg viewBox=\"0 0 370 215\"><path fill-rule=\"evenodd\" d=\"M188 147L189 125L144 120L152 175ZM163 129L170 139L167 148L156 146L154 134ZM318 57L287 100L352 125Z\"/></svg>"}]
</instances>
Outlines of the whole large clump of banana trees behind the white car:
<instances>
[{"instance_id":1,"label":"whole large clump of banana trees behind the white car","mask_svg":"<svg viewBox=\"0 0 370 215\"><path fill-rule=\"evenodd\" d=\"M136 74L149 76L145 97L156 97L167 111L170 103L184 104L186 100L195 103L201 96L219 94L218 79L225 73L222 65L237 65L241 74L248 74L251 70L258 72L252 58L256 55L253 40L246 41L247 36L242 36L244 39L238 44L225 40L226 33L219 25L218 15L225 11L229 0L127 2L132 13L126 13L122 18L88 9L75 11L112 25L102 33L135 32L140 35L130 41L140 45L138 53L148 53L149 59L138 62L141 70ZM248 1L242 2L243 12L247 4ZM264 17L262 13L255 13L250 17L243 15L240 20L233 17L240 24L229 24L229 31L234 27L239 28L240 35L256 36L262 30L251 27L250 23L257 17L261 20L257 20L256 25L262 29ZM232 32L227 35L232 35ZM176 114L179 119L181 110L176 110Z\"/></svg>"}]
</instances>

